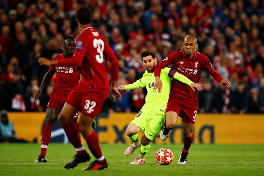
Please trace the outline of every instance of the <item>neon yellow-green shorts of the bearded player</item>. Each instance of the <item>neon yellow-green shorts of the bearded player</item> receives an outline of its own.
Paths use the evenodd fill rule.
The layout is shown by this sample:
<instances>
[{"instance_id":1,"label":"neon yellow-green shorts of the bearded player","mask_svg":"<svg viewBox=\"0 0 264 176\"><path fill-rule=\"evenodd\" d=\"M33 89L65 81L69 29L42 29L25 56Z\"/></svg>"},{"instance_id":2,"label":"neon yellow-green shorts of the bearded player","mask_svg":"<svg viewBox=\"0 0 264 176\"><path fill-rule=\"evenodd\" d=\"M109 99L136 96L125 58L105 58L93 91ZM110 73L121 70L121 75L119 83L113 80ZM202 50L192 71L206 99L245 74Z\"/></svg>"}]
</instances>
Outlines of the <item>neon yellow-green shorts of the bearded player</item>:
<instances>
[{"instance_id":1,"label":"neon yellow-green shorts of the bearded player","mask_svg":"<svg viewBox=\"0 0 264 176\"><path fill-rule=\"evenodd\" d=\"M165 115L149 114L140 110L138 115L130 122L136 124L148 139L153 140L164 126Z\"/></svg>"}]
</instances>

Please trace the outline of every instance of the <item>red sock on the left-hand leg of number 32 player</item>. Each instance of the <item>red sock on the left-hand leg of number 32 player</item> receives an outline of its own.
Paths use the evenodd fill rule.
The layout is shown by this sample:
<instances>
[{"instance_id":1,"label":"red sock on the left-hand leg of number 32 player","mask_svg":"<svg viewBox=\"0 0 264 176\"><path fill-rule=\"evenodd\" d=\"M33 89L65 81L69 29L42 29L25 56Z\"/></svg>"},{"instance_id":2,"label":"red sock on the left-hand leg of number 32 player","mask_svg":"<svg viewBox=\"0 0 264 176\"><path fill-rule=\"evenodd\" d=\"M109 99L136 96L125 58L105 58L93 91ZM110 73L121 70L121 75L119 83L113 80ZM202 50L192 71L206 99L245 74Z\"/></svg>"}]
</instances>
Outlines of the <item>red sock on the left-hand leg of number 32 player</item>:
<instances>
[{"instance_id":1,"label":"red sock on the left-hand leg of number 32 player","mask_svg":"<svg viewBox=\"0 0 264 176\"><path fill-rule=\"evenodd\" d=\"M87 151L84 149L80 136L78 135L76 125L73 121L67 124L61 124L62 128L64 129L68 140L74 146L75 150L77 151L77 155L84 156L86 155Z\"/></svg>"}]
</instances>

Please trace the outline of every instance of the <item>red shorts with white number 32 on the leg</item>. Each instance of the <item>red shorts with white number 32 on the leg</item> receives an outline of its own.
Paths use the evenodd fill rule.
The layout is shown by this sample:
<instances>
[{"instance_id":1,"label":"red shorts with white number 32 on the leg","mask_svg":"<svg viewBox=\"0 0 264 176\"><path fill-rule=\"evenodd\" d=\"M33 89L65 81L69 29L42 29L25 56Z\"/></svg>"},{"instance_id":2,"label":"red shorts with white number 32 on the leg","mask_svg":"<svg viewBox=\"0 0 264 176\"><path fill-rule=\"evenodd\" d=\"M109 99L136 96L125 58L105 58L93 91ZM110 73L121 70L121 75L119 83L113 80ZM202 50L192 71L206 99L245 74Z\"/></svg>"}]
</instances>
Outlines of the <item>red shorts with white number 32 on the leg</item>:
<instances>
[{"instance_id":1,"label":"red shorts with white number 32 on the leg","mask_svg":"<svg viewBox=\"0 0 264 176\"><path fill-rule=\"evenodd\" d=\"M66 102L77 110L82 110L83 115L95 117L102 110L108 92L109 89L90 89L79 84L72 90Z\"/></svg>"}]
</instances>

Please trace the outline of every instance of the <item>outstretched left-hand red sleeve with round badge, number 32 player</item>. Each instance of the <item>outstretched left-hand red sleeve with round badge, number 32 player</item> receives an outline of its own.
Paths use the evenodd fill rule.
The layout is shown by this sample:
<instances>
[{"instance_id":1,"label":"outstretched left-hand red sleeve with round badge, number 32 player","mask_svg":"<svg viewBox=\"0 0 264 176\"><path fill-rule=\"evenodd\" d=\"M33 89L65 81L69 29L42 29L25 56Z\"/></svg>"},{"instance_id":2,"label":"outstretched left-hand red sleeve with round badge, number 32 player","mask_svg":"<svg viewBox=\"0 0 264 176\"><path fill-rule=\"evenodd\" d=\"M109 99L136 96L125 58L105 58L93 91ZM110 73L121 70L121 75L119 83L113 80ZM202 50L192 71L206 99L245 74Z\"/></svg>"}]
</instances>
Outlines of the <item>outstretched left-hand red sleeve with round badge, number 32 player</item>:
<instances>
[{"instance_id":1,"label":"outstretched left-hand red sleeve with round badge, number 32 player","mask_svg":"<svg viewBox=\"0 0 264 176\"><path fill-rule=\"evenodd\" d=\"M81 35L77 37L76 39L76 49L74 52L74 55L70 59L65 59L65 60L58 60L59 66L81 66L82 61L83 61L83 56L86 53L87 46L84 43L86 40L81 39Z\"/></svg>"}]
</instances>

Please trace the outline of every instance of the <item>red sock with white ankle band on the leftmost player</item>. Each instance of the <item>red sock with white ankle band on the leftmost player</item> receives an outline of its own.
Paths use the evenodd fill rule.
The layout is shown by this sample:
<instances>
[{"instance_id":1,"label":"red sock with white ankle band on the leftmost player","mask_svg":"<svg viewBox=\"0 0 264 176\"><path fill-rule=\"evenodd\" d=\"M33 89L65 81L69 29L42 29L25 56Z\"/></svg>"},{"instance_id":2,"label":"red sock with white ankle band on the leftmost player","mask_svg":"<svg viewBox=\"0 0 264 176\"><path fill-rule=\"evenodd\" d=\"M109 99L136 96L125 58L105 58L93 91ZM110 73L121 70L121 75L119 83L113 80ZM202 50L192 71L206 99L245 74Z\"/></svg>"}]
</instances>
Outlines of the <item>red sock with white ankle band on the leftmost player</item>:
<instances>
[{"instance_id":1,"label":"red sock with white ankle band on the leftmost player","mask_svg":"<svg viewBox=\"0 0 264 176\"><path fill-rule=\"evenodd\" d=\"M44 130L42 131L42 135L41 135L40 156L46 156L52 129L53 129L52 125L50 125L49 123L45 123Z\"/></svg>"}]
</instances>

